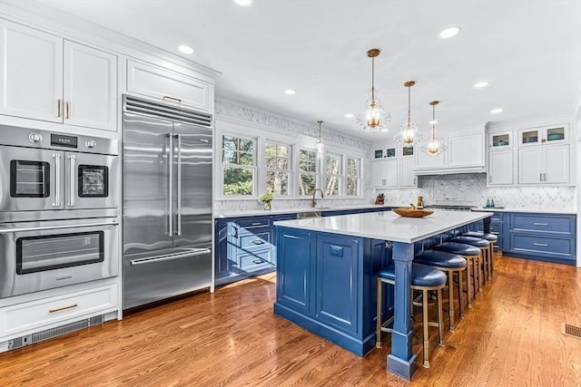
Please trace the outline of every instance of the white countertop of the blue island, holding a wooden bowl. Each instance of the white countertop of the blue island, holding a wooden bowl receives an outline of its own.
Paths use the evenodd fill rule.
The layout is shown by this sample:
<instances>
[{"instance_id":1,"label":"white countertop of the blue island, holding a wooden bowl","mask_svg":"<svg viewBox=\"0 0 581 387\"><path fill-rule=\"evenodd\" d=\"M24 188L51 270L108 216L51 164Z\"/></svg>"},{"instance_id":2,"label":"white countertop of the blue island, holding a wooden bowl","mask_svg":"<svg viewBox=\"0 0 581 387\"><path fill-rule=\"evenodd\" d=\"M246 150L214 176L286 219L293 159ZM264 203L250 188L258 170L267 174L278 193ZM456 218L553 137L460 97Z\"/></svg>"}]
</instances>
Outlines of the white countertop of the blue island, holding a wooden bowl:
<instances>
[{"instance_id":1,"label":"white countertop of the blue island, holding a wooden bowl","mask_svg":"<svg viewBox=\"0 0 581 387\"><path fill-rule=\"evenodd\" d=\"M491 216L490 212L436 209L428 217L404 218L393 211L383 211L337 217L281 220L274 222L274 225L413 243Z\"/></svg>"}]
</instances>

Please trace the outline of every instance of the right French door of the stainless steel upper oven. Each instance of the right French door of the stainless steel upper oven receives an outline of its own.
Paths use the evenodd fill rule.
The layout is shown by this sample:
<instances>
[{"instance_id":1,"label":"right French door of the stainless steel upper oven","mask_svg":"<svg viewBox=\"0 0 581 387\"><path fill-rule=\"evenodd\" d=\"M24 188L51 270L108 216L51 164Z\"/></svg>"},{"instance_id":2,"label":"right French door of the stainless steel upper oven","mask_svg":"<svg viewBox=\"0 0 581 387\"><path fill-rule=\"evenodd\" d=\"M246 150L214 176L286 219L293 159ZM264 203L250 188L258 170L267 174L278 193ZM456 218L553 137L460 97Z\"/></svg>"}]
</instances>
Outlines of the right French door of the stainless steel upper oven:
<instances>
[{"instance_id":1,"label":"right French door of the stainless steel upper oven","mask_svg":"<svg viewBox=\"0 0 581 387\"><path fill-rule=\"evenodd\" d=\"M118 156L65 152L64 164L65 208L119 208Z\"/></svg>"}]
</instances>

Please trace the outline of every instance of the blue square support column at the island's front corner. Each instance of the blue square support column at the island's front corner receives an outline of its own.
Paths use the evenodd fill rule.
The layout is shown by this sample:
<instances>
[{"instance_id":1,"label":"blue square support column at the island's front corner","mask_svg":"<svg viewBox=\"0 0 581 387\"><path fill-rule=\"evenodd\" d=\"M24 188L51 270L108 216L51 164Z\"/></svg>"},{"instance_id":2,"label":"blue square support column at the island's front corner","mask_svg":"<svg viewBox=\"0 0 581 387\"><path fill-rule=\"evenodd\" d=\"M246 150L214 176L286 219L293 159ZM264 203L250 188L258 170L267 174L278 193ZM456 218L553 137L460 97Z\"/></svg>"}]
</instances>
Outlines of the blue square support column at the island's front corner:
<instances>
[{"instance_id":1,"label":"blue square support column at the island's front corner","mask_svg":"<svg viewBox=\"0 0 581 387\"><path fill-rule=\"evenodd\" d=\"M412 325L409 321L411 311L411 261L414 258L414 245L393 243L393 262L395 265L396 285L394 294L394 320L391 333L391 353L388 355L388 371L407 380L416 372L416 355L411 351Z\"/></svg>"}]
</instances>

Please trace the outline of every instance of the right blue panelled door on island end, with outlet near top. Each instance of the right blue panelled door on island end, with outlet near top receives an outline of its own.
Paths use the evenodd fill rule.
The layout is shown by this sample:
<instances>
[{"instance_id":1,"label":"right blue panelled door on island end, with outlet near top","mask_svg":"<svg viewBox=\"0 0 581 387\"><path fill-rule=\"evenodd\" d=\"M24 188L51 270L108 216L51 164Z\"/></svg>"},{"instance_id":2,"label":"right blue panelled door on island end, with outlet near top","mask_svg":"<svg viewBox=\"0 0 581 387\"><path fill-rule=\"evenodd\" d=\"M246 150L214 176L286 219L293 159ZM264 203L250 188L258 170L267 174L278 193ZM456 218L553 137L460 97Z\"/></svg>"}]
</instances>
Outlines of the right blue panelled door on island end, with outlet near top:
<instances>
[{"instance_id":1,"label":"right blue panelled door on island end, with outlet near top","mask_svg":"<svg viewBox=\"0 0 581 387\"><path fill-rule=\"evenodd\" d=\"M358 237L317 235L315 318L347 333L359 333L359 289L362 276Z\"/></svg>"}]
</instances>

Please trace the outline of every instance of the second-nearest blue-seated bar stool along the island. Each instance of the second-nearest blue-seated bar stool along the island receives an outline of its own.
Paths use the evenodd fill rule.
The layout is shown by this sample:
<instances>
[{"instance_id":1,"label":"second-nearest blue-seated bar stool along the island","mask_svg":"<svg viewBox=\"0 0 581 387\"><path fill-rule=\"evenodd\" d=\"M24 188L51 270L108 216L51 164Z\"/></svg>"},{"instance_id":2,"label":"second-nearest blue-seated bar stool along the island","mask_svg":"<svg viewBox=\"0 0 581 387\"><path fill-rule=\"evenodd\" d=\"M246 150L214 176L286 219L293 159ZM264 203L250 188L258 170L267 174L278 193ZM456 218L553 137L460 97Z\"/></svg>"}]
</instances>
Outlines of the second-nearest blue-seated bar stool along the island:
<instances>
[{"instance_id":1,"label":"second-nearest blue-seated bar stool along the island","mask_svg":"<svg viewBox=\"0 0 581 387\"><path fill-rule=\"evenodd\" d=\"M454 273L458 276L458 313L462 316L462 272L466 270L466 258L445 251L426 250L414 256L414 262L437 268L447 274L449 330L454 332Z\"/></svg>"}]
</instances>

